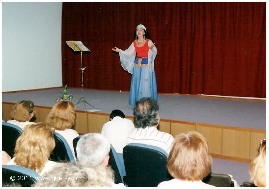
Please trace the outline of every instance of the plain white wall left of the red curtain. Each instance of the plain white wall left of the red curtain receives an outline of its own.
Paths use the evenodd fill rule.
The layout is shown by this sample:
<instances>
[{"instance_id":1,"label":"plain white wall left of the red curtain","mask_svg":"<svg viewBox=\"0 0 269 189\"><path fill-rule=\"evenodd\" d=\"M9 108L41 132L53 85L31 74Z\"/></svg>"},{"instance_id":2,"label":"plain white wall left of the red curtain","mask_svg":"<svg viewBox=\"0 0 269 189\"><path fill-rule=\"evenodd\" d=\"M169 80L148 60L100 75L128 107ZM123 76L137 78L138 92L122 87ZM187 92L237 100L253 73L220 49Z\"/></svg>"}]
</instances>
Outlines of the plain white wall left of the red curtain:
<instances>
[{"instance_id":1,"label":"plain white wall left of the red curtain","mask_svg":"<svg viewBox=\"0 0 269 189\"><path fill-rule=\"evenodd\" d=\"M62 86L62 2L2 2L2 91Z\"/></svg>"}]
</instances>

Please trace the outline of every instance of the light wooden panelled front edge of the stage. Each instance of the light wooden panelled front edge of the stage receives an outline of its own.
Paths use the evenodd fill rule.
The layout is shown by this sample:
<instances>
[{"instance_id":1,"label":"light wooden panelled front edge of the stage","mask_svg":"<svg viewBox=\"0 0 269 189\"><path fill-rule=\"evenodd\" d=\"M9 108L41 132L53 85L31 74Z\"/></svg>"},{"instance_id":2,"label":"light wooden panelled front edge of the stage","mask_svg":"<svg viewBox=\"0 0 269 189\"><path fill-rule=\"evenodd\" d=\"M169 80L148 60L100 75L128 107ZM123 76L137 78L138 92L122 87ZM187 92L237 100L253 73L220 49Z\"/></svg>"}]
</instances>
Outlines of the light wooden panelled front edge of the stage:
<instances>
[{"instance_id":1,"label":"light wooden panelled front edge of the stage","mask_svg":"<svg viewBox=\"0 0 269 189\"><path fill-rule=\"evenodd\" d=\"M10 111L14 104L2 102L3 120L11 119ZM35 110L35 122L45 122L51 107L35 106ZM79 134L101 133L103 125L109 121L109 115L109 113L77 110L74 129ZM126 118L134 121L133 116ZM266 138L266 130L170 119L161 119L158 129L170 133L173 137L180 133L197 131L207 139L212 157L247 163L256 157L258 144L261 139Z\"/></svg>"}]
</instances>

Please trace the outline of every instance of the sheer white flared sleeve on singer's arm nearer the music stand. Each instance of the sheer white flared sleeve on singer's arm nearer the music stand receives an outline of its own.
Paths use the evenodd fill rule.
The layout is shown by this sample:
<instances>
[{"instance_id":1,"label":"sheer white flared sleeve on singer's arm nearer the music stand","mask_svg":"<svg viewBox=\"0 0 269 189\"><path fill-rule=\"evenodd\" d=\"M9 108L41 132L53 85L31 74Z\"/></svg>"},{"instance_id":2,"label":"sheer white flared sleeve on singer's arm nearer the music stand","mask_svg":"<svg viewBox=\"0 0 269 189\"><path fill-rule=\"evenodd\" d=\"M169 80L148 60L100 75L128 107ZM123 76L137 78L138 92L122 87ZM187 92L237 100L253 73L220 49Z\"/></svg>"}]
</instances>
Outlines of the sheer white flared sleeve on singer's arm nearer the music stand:
<instances>
[{"instance_id":1,"label":"sheer white flared sleeve on singer's arm nearer the music stand","mask_svg":"<svg viewBox=\"0 0 269 189\"><path fill-rule=\"evenodd\" d=\"M134 43L132 43L128 47L128 49L119 51L119 59L121 66L124 68L124 70L128 71L131 74L133 73L135 55L136 51Z\"/></svg>"}]
</instances>

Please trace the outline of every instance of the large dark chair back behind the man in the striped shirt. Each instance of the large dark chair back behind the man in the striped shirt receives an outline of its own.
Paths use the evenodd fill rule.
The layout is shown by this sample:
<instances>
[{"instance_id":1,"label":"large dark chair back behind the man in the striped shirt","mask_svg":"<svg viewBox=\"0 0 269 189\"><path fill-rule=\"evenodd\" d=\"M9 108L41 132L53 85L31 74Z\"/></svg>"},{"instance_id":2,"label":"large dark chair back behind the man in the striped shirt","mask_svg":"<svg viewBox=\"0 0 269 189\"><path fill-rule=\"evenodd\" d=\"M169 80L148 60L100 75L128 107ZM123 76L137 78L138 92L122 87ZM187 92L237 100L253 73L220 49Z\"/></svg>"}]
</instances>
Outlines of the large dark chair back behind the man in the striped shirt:
<instances>
[{"instance_id":1,"label":"large dark chair back behind the man in the striped shirt","mask_svg":"<svg viewBox=\"0 0 269 189\"><path fill-rule=\"evenodd\" d=\"M157 187L173 177L167 170L168 154L146 144L130 143L123 148L128 187Z\"/></svg>"}]
</instances>

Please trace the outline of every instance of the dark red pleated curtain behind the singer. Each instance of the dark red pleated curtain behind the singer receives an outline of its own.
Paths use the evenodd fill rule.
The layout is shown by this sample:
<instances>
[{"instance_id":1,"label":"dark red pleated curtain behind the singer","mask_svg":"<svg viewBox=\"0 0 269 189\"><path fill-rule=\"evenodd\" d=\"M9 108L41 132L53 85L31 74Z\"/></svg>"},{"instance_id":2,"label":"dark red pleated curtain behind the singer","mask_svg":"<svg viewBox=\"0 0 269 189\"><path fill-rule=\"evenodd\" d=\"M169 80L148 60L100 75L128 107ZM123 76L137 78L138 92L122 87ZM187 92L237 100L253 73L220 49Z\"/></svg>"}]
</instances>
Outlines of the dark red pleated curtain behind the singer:
<instances>
[{"instance_id":1,"label":"dark red pleated curtain behind the singer","mask_svg":"<svg viewBox=\"0 0 269 189\"><path fill-rule=\"evenodd\" d=\"M127 49L146 25L158 50L158 93L266 97L266 2L63 2L63 85L129 91L112 47Z\"/></svg>"}]
</instances>

